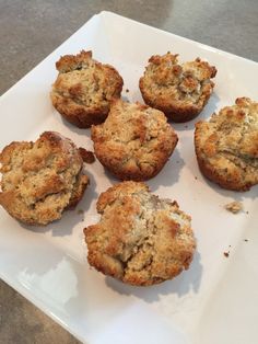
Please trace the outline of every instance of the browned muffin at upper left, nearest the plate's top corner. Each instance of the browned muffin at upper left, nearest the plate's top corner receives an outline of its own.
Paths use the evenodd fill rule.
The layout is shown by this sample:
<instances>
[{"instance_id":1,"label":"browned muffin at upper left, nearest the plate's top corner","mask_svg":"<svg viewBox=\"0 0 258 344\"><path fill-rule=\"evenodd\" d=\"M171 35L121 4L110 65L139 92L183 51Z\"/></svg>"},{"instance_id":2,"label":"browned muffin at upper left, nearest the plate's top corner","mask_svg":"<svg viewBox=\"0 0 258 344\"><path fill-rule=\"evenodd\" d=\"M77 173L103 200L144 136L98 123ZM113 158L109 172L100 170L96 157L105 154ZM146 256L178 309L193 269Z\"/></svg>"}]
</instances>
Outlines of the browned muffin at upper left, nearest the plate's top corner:
<instances>
[{"instance_id":1,"label":"browned muffin at upper left, nearest the plate's top corner","mask_svg":"<svg viewBox=\"0 0 258 344\"><path fill-rule=\"evenodd\" d=\"M56 110L79 128L105 121L109 102L120 98L122 78L109 66L92 58L92 51L62 56L52 85L51 101Z\"/></svg>"}]
</instances>

